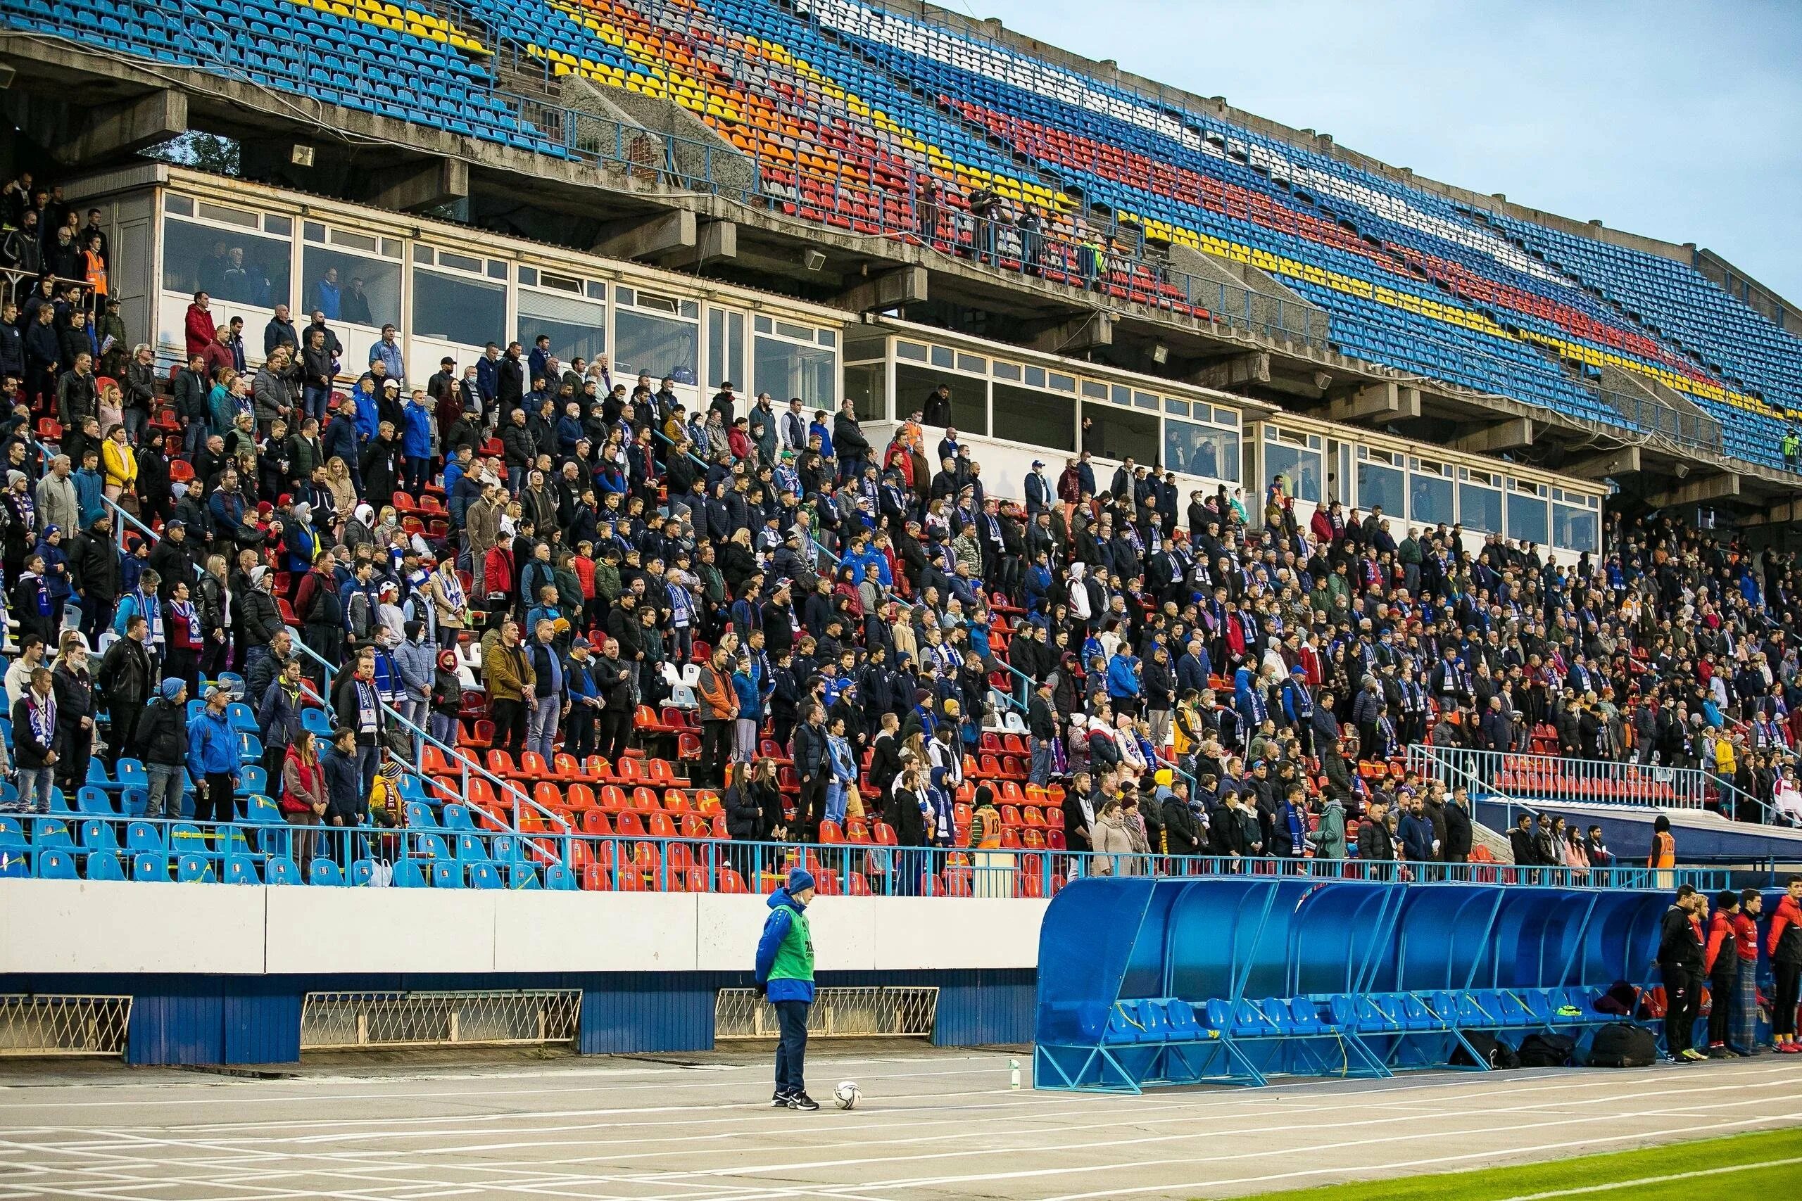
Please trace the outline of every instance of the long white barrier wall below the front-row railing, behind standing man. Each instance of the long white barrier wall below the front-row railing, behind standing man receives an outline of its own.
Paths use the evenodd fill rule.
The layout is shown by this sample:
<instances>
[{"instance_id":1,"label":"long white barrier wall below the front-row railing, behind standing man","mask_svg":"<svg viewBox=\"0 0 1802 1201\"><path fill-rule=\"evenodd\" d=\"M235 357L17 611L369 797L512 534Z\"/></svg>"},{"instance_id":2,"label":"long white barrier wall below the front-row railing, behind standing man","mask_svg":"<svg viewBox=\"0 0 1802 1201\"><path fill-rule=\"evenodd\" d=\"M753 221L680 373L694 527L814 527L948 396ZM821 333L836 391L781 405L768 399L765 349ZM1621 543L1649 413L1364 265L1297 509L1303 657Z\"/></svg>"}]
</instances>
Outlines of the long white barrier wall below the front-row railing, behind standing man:
<instances>
[{"instance_id":1,"label":"long white barrier wall below the front-row railing, behind standing man","mask_svg":"<svg viewBox=\"0 0 1802 1201\"><path fill-rule=\"evenodd\" d=\"M1036 967L1043 900L820 897L820 971ZM748 971L764 897L0 880L0 974Z\"/></svg>"}]
</instances>

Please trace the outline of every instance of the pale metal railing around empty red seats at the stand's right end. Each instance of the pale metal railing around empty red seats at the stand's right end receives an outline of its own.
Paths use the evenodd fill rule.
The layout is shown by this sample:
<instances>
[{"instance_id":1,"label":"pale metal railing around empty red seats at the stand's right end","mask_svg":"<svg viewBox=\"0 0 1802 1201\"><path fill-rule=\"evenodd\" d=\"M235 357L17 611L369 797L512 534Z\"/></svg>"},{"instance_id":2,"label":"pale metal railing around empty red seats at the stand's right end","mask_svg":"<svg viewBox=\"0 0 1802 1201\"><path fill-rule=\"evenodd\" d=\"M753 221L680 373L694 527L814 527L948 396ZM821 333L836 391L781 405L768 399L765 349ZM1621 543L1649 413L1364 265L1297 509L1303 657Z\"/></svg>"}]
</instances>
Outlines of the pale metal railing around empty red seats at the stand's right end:
<instances>
[{"instance_id":1,"label":"pale metal railing around empty red seats at the stand's right end","mask_svg":"<svg viewBox=\"0 0 1802 1201\"><path fill-rule=\"evenodd\" d=\"M1492 794L1515 805L1633 805L1714 810L1735 821L1768 823L1771 807L1734 781L1694 767L1615 763L1514 751L1411 745L1409 763L1447 787Z\"/></svg>"}]
</instances>

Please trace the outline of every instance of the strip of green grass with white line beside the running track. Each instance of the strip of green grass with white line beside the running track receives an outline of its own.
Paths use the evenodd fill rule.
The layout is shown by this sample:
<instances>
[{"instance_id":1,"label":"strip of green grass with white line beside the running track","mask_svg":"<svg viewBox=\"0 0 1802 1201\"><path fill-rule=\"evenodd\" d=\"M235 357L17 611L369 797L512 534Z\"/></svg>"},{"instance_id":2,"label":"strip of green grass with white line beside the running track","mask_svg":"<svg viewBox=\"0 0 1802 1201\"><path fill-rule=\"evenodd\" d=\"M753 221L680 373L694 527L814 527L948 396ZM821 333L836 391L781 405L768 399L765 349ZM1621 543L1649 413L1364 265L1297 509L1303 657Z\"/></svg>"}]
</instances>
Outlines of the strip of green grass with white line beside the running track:
<instances>
[{"instance_id":1,"label":"strip of green grass with white line beside the running track","mask_svg":"<svg viewBox=\"0 0 1802 1201\"><path fill-rule=\"evenodd\" d=\"M1795 1160L1793 1163L1780 1163ZM1663 1179L1685 1172L1708 1172ZM1539 1194L1579 1201L1784 1197L1802 1190L1802 1129L1705 1138L1643 1151L1552 1160L1478 1172L1263 1192L1252 1201L1508 1201Z\"/></svg>"}]
</instances>

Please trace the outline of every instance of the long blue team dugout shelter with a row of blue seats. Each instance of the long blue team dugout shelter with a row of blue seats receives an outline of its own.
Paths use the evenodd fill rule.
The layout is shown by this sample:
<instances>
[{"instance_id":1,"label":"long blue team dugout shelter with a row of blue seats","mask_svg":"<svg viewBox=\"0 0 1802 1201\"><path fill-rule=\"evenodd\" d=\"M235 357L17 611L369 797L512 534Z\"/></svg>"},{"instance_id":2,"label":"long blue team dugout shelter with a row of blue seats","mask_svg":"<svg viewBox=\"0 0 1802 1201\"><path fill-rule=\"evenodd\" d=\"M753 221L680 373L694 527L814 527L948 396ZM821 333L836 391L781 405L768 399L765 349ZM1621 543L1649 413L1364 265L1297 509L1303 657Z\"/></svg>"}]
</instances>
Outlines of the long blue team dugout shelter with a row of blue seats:
<instances>
[{"instance_id":1,"label":"long blue team dugout shelter with a row of blue seats","mask_svg":"<svg viewBox=\"0 0 1802 1201\"><path fill-rule=\"evenodd\" d=\"M1589 1001L1645 980L1667 904L1519 884L1072 880L1040 929L1034 1084L1386 1077L1458 1052L1487 1070L1467 1032L1582 1039L1616 1021Z\"/></svg>"}]
</instances>

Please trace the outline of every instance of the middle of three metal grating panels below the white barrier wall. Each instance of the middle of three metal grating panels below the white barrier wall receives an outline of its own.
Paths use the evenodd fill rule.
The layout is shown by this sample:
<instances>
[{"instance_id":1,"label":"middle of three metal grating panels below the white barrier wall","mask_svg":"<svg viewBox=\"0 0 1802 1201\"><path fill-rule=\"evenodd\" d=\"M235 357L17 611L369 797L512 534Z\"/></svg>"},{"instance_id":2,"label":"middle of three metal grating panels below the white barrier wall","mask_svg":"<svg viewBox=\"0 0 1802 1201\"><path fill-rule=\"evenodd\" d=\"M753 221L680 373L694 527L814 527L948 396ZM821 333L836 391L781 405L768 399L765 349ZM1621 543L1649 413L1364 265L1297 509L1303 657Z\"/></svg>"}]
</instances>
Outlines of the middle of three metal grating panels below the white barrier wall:
<instances>
[{"instance_id":1,"label":"middle of three metal grating panels below the white barrier wall","mask_svg":"<svg viewBox=\"0 0 1802 1201\"><path fill-rule=\"evenodd\" d=\"M301 1050L573 1043L580 989L308 992Z\"/></svg>"}]
</instances>

